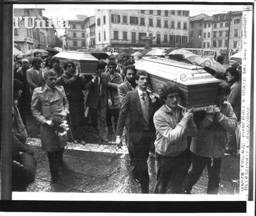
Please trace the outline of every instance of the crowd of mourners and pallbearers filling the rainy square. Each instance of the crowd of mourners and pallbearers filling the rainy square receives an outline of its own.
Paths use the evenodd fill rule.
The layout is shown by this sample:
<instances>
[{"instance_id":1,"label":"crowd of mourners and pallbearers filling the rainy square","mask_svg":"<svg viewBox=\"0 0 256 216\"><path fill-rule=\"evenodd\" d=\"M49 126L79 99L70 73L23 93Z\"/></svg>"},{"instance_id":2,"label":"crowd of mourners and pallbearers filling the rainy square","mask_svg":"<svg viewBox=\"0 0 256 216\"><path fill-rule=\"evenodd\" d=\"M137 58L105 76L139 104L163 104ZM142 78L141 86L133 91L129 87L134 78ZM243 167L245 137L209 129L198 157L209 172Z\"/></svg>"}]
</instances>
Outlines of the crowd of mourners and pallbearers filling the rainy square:
<instances>
[{"instance_id":1,"label":"crowd of mourners and pallbearers filling the rainy square","mask_svg":"<svg viewBox=\"0 0 256 216\"><path fill-rule=\"evenodd\" d=\"M72 60L66 60L62 68L54 56L46 60L41 53L34 56L31 65L23 59L20 68L14 66L12 176L23 177L18 184L35 179L36 161L25 144L26 115L31 112L41 127L42 149L48 154L53 182L58 180L68 141L86 144L77 128L87 125L91 137L100 143L108 143L109 135L115 135L121 148L125 140L133 178L142 193L149 193L150 151L157 161L154 193L169 189L191 193L206 165L207 193L218 193L221 158L225 152L236 154L239 149L238 64L227 68L225 74L214 74L220 79L215 101L194 113L193 108L178 106L185 95L171 82L162 87L159 97L149 92L149 74L137 70L132 58L99 60L96 74L84 75ZM56 131L66 122L66 133Z\"/></svg>"}]
</instances>

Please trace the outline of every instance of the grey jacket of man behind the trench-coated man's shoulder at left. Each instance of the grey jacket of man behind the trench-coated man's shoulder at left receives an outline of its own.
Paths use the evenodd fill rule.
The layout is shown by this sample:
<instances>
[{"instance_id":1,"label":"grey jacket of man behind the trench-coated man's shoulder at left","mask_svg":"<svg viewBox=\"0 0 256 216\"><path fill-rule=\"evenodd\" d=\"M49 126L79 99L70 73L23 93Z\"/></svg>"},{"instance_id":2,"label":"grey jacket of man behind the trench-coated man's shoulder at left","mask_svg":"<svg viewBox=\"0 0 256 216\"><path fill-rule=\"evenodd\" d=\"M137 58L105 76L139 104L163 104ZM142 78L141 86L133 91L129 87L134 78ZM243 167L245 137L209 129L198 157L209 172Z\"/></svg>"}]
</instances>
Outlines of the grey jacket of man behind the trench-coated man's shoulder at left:
<instances>
[{"instance_id":1,"label":"grey jacket of man behind the trench-coated man's shoulder at left","mask_svg":"<svg viewBox=\"0 0 256 216\"><path fill-rule=\"evenodd\" d=\"M44 83L43 69L39 69L39 75L37 75L34 68L28 69L28 71L26 71L26 80L28 80L30 93L33 94L33 90L35 88L41 87Z\"/></svg>"}]
</instances>

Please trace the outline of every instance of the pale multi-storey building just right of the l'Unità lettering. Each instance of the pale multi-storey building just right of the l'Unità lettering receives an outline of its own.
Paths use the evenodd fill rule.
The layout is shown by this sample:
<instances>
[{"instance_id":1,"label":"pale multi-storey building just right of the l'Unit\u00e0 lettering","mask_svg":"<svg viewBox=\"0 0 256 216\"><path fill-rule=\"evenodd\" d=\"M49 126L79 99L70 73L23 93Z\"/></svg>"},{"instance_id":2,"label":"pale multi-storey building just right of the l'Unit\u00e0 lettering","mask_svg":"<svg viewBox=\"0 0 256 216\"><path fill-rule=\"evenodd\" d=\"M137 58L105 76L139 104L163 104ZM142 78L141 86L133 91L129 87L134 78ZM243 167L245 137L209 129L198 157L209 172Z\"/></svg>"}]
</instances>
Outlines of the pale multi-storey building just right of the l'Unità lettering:
<instances>
[{"instance_id":1,"label":"pale multi-storey building just right of the l'Unit\u00e0 lettering","mask_svg":"<svg viewBox=\"0 0 256 216\"><path fill-rule=\"evenodd\" d=\"M77 15L77 20L68 20L70 29L66 29L66 50L86 48L86 15Z\"/></svg>"}]
</instances>

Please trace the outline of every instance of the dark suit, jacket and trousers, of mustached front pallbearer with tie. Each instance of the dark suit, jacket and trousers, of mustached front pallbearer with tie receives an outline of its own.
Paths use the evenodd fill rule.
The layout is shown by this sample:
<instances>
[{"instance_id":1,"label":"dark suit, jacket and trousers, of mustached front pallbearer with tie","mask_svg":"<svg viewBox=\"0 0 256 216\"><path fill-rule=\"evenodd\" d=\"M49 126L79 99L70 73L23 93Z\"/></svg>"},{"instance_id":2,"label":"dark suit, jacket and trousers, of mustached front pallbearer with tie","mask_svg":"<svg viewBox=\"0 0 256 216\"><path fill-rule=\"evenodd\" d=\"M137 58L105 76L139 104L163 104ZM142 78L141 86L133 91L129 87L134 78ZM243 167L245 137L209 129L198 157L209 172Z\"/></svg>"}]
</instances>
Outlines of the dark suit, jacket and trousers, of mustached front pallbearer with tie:
<instances>
[{"instance_id":1,"label":"dark suit, jacket and trousers, of mustached front pallbearer with tie","mask_svg":"<svg viewBox=\"0 0 256 216\"><path fill-rule=\"evenodd\" d=\"M133 142L136 156L136 166L133 173L140 180L142 193L149 193L149 172L147 168L147 158L149 157L151 141L156 138L156 129L153 123L153 114L159 108L159 103L152 103L149 92L149 129L143 128L143 109L140 103L138 89L127 92L122 103L121 112L117 123L117 136L122 136L127 115L130 114L129 124L126 126L130 141Z\"/></svg>"}]
</instances>

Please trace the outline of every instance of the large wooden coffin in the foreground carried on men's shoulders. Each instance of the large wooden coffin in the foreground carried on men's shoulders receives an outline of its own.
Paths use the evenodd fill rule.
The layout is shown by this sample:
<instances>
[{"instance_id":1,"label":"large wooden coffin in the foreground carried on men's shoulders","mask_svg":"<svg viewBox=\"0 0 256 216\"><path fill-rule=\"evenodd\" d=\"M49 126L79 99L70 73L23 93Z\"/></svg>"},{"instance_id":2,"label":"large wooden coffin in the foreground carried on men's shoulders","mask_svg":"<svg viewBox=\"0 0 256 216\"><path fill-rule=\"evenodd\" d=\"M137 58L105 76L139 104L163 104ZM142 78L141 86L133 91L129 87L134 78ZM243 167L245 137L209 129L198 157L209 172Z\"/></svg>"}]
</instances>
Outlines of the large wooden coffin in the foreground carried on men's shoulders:
<instances>
[{"instance_id":1,"label":"large wooden coffin in the foreground carried on men's shoulders","mask_svg":"<svg viewBox=\"0 0 256 216\"><path fill-rule=\"evenodd\" d=\"M200 66L159 57L143 57L134 66L149 73L148 88L154 93L159 93L167 82L176 83L186 95L179 101L182 107L200 110L215 100L220 81Z\"/></svg>"}]
</instances>

